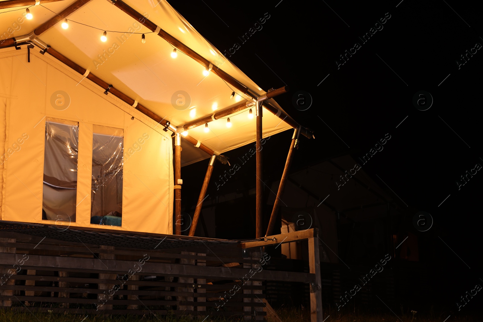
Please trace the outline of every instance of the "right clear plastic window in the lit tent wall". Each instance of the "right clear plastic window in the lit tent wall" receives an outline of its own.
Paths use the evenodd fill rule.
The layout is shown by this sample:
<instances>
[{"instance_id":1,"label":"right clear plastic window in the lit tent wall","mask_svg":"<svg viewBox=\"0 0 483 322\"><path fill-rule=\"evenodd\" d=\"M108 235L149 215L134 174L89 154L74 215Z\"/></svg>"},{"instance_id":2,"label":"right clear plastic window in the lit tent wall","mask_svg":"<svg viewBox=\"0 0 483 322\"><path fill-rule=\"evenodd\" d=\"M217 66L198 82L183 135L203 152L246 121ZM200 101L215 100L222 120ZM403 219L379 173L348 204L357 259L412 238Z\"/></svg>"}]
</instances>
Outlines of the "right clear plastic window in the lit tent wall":
<instances>
[{"instance_id":1,"label":"right clear plastic window in the lit tent wall","mask_svg":"<svg viewBox=\"0 0 483 322\"><path fill-rule=\"evenodd\" d=\"M124 133L94 125L91 224L121 226Z\"/></svg>"}]
</instances>

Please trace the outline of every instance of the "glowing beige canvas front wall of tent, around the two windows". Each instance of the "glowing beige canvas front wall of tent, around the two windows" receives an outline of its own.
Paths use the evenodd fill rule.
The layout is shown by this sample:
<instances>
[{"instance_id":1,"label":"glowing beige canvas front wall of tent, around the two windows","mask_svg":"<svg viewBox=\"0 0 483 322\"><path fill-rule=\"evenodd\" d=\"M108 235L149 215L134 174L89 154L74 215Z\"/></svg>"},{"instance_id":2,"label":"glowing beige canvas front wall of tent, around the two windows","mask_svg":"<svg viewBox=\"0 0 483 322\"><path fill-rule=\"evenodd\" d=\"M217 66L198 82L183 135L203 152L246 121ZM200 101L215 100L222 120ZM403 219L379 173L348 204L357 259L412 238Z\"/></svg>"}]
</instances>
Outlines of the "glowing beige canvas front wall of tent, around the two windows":
<instances>
[{"instance_id":1,"label":"glowing beige canvas front wall of tent, around the two windows","mask_svg":"<svg viewBox=\"0 0 483 322\"><path fill-rule=\"evenodd\" d=\"M93 84L81 81L82 77L48 55L32 51L30 62L27 62L26 49L8 48L0 51L0 68L0 149L5 146L5 150L11 152L0 165L4 182L2 220L172 233L170 133L162 131L134 108L104 95ZM51 102L57 91L63 91L63 95L70 98L64 110ZM42 220L43 192L49 194L53 188L45 188L43 184L46 118L79 124L75 222L69 223L66 218L57 221L57 214L53 218L50 216L50 221ZM90 224L95 126L124 131L121 227Z\"/></svg>"}]
</instances>

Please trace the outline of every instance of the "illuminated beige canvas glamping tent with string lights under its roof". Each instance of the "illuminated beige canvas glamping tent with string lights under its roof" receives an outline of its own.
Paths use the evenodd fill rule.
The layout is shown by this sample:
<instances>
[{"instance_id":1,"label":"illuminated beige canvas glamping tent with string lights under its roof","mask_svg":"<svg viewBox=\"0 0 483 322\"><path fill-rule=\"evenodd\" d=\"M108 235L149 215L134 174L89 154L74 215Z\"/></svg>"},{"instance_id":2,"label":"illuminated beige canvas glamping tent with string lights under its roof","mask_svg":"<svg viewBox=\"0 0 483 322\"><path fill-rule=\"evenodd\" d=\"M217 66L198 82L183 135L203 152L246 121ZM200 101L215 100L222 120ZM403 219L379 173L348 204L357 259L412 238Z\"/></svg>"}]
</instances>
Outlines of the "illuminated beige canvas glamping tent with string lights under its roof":
<instances>
[{"instance_id":1,"label":"illuminated beige canvas glamping tent with string lights under its roof","mask_svg":"<svg viewBox=\"0 0 483 322\"><path fill-rule=\"evenodd\" d=\"M258 87L166 1L6 0L0 15L3 221L172 234L181 166L210 158L207 184L225 151L313 136L273 99L286 87Z\"/></svg>"}]
</instances>

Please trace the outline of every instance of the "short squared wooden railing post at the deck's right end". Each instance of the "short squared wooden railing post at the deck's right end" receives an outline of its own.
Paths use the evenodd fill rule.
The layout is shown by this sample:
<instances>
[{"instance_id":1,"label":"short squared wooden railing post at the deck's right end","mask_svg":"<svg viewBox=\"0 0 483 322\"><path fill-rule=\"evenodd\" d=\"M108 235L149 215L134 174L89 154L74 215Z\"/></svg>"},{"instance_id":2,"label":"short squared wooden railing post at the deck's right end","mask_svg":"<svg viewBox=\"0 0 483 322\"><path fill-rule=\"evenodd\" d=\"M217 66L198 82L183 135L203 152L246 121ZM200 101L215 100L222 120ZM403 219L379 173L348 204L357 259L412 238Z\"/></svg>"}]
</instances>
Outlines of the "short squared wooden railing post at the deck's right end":
<instances>
[{"instance_id":1,"label":"short squared wooden railing post at the deck's right end","mask_svg":"<svg viewBox=\"0 0 483 322\"><path fill-rule=\"evenodd\" d=\"M313 230L313 238L309 238L310 274L315 274L315 282L310 284L310 321L322 322L322 280L320 276L319 236L318 229Z\"/></svg>"}]
</instances>

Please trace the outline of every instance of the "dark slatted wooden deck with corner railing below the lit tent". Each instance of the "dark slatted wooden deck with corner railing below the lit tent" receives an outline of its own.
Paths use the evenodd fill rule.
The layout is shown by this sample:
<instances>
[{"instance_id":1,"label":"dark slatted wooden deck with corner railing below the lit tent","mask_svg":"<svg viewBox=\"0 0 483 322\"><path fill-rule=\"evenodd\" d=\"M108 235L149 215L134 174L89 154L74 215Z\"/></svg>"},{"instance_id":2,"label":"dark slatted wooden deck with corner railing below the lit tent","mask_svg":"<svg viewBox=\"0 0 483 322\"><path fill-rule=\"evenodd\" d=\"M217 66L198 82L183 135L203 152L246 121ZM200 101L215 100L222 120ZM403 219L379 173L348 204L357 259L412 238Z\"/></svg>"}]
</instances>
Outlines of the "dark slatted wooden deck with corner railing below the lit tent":
<instances>
[{"instance_id":1,"label":"dark slatted wooden deck with corner railing below the lit tent","mask_svg":"<svg viewBox=\"0 0 483 322\"><path fill-rule=\"evenodd\" d=\"M205 247L166 249L99 245L82 238L76 243L26 232L1 231L3 308L244 316L262 321L266 315L262 283L270 280L309 283L312 321L322 321L318 238L313 229L227 244L210 245L216 239L199 238ZM310 273L266 268L270 255L263 246L302 239L309 240Z\"/></svg>"}]
</instances>

